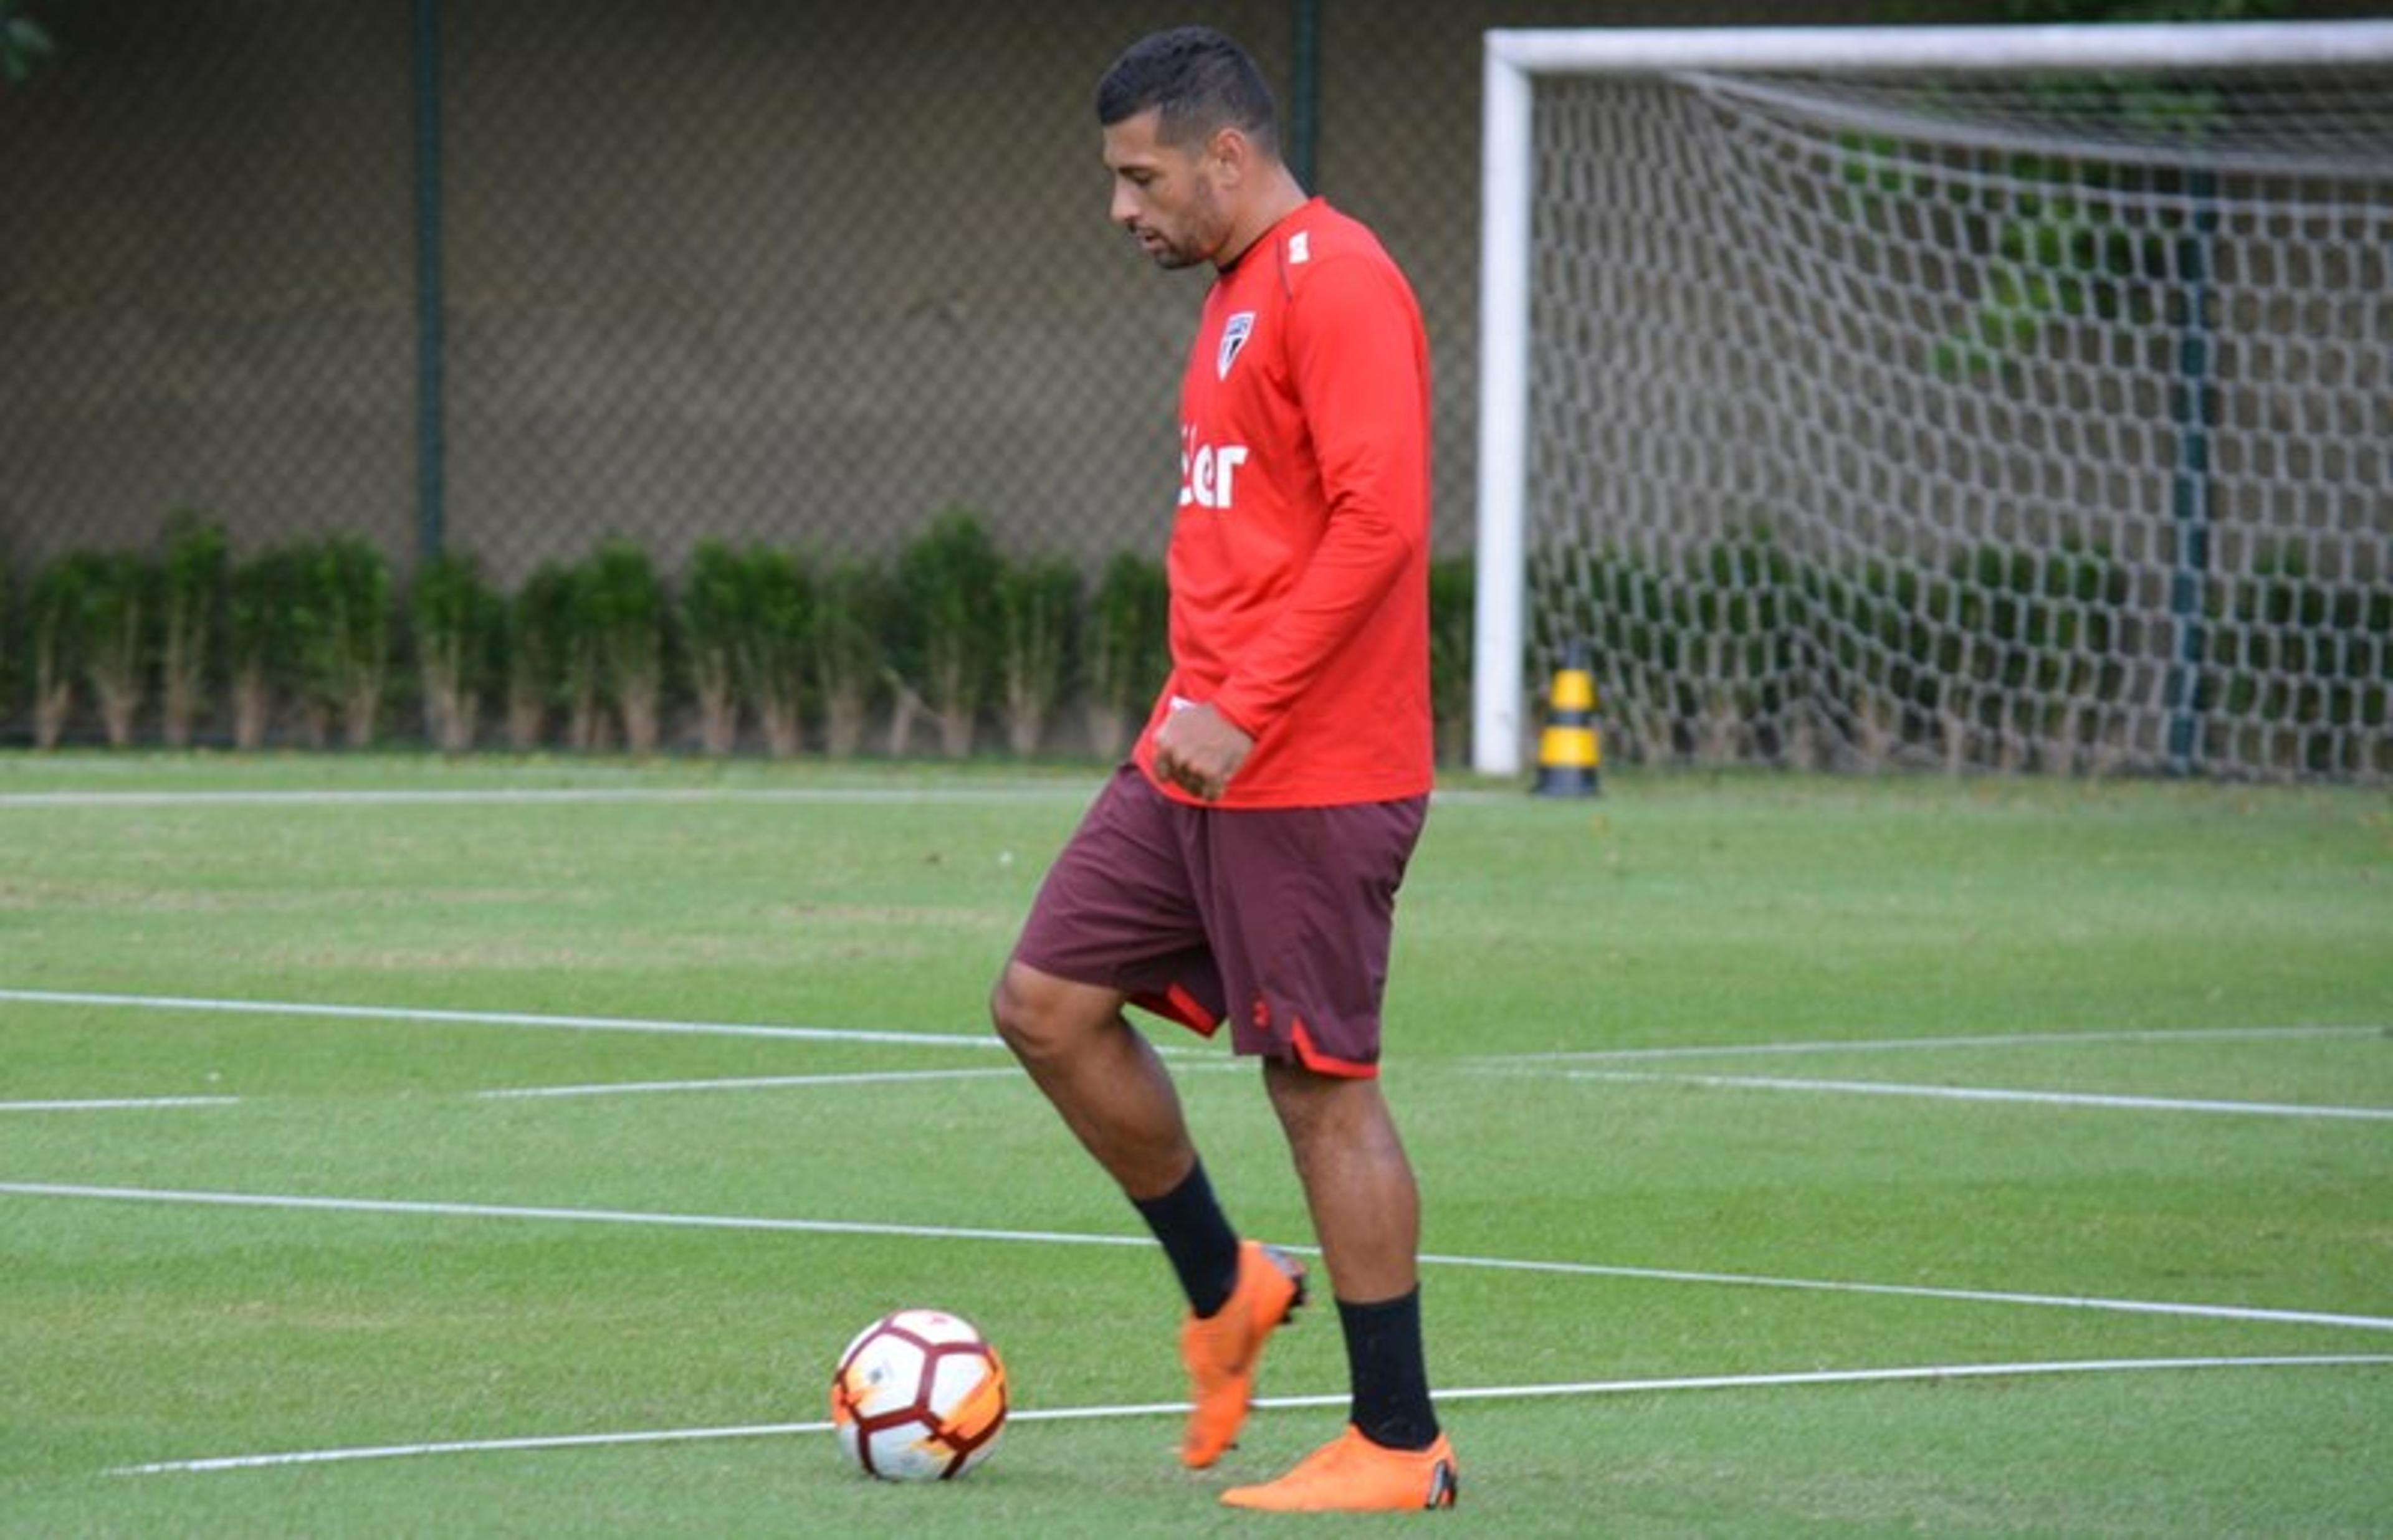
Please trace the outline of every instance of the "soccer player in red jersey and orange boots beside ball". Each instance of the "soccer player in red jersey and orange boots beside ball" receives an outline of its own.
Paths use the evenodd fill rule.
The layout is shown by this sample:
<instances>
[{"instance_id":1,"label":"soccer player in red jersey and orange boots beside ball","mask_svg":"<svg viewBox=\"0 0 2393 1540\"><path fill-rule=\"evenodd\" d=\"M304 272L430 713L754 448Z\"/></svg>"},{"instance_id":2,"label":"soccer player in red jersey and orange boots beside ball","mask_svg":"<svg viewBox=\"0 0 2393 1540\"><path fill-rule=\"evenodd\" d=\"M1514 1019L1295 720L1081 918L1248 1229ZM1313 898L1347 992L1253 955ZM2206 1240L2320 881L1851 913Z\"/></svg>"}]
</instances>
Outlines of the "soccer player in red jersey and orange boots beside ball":
<instances>
[{"instance_id":1,"label":"soccer player in red jersey and orange boots beside ball","mask_svg":"<svg viewBox=\"0 0 2393 1540\"><path fill-rule=\"evenodd\" d=\"M1125 1004L1261 1059L1352 1373L1342 1437L1247 1509L1429 1509L1455 1456L1421 1361L1419 1188L1378 1088L1395 890L1431 789L1429 344L1412 287L1280 160L1261 72L1175 29L1098 86L1113 222L1216 270L1180 383L1173 674L1055 866L991 1014L1153 1229L1206 1468L1304 1267L1240 1239Z\"/></svg>"}]
</instances>

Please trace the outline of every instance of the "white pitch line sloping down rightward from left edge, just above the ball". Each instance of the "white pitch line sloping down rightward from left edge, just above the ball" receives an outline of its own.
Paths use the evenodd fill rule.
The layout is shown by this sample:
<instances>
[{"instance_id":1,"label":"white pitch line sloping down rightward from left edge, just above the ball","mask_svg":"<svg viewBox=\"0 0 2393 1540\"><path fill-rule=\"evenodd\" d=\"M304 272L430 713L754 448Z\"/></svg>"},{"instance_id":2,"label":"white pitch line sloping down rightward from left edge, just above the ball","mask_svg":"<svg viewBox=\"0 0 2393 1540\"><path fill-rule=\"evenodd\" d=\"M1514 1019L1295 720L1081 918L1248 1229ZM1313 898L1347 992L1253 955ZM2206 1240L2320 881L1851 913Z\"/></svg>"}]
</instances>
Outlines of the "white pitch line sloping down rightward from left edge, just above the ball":
<instances>
[{"instance_id":1,"label":"white pitch line sloping down rightward from left edge, just above the ball","mask_svg":"<svg viewBox=\"0 0 2393 1540\"><path fill-rule=\"evenodd\" d=\"M850 1236L897 1236L931 1241L1034 1241L1043 1246L1153 1246L1149 1236L1108 1236L1086 1232L1036 1232L1036 1229L972 1229L950 1224L869 1224L861 1220L761 1220L737 1215L670 1215L605 1208L522 1208L503 1203L424 1203L395 1198L299 1198L280 1193L199 1193L139 1186L77 1186L55 1181L0 1181L0 1196L19 1198L96 1198L117 1203L196 1203L213 1208L292 1208L316 1212L357 1215L431 1215L457 1220L558 1220L574 1224L660 1224L677 1229L751 1229L783 1234L850 1234ZM1314 1246L1290 1246L1290 1251L1316 1253ZM1871 1294L1898 1298L1938 1298L1986 1306L2044 1306L2060 1310L2115 1310L2125 1315L2178 1315L2199 1320L2242 1320L2309 1327L2357 1327L2367 1332L2393 1332L2393 1318L2383 1315L2336 1315L2324 1310L2278 1310L2269 1306L2202 1306L2149 1298L2099 1298L2070 1294L2005 1294L1996 1289L1934 1289L1926 1284L1852 1284L1835 1279L1766 1277L1752 1272L1692 1272L1675 1267L1618 1267L1608 1263L1543 1263L1520 1258L1474 1258L1424 1253L1424 1265L1481 1267L1496 1272L1548 1272L1560 1277L1620 1277L1663 1284L1718 1284L1735 1289L1802 1289L1812 1294Z\"/></svg>"}]
</instances>

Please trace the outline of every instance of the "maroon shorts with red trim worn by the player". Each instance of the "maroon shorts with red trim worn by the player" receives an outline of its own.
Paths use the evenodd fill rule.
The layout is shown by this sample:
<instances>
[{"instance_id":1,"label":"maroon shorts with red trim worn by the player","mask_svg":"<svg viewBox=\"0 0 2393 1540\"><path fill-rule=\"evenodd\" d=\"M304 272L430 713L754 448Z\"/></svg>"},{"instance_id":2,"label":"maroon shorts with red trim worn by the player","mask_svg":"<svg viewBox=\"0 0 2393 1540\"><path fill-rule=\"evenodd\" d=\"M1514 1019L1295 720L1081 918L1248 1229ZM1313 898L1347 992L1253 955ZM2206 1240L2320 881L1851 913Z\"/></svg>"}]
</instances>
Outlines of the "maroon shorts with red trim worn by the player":
<instances>
[{"instance_id":1,"label":"maroon shorts with red trim worn by the player","mask_svg":"<svg viewBox=\"0 0 2393 1540\"><path fill-rule=\"evenodd\" d=\"M1242 1055L1378 1074L1395 890L1426 796L1196 808L1122 765L1055 856L1015 961L1120 990Z\"/></svg>"}]
</instances>

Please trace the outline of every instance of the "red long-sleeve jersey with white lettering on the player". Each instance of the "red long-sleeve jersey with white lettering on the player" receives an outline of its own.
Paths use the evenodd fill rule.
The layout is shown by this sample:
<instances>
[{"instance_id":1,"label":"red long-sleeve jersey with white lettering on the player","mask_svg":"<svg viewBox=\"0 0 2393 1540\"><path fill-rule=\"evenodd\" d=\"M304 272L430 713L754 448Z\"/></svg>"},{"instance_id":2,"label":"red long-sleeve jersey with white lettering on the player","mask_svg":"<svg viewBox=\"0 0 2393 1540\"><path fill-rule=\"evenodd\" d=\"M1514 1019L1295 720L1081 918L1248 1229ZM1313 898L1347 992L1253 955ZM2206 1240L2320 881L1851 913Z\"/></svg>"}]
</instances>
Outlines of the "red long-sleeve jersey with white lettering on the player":
<instances>
[{"instance_id":1,"label":"red long-sleeve jersey with white lettering on the player","mask_svg":"<svg viewBox=\"0 0 2393 1540\"><path fill-rule=\"evenodd\" d=\"M1223 808L1419 796L1429 710L1429 340L1378 239L1314 198L1218 275L1180 383L1173 674L1254 739Z\"/></svg>"}]
</instances>

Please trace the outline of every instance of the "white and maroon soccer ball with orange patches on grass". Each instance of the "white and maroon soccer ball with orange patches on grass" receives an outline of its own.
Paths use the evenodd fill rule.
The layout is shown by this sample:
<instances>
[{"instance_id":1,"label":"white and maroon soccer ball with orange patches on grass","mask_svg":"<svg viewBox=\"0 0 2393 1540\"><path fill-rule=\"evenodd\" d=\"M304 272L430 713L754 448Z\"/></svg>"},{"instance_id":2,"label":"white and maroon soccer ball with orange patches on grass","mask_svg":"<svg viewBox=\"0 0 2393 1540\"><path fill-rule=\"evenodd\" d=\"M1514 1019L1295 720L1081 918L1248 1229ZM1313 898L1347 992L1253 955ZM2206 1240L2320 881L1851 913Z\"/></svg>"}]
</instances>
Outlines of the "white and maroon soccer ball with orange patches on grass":
<instances>
[{"instance_id":1,"label":"white and maroon soccer ball with orange patches on grass","mask_svg":"<svg viewBox=\"0 0 2393 1540\"><path fill-rule=\"evenodd\" d=\"M1005 1365L969 1320L895 1310L830 1375L840 1454L881 1480L955 1480L998 1447Z\"/></svg>"}]
</instances>

